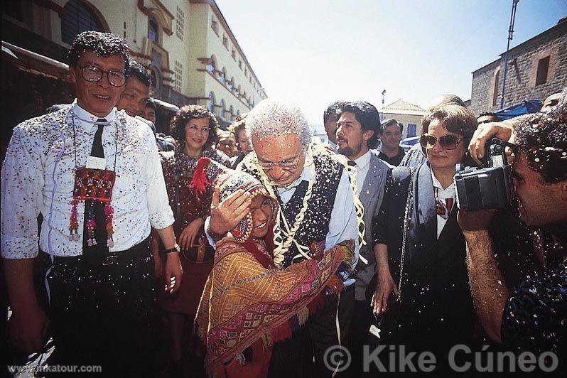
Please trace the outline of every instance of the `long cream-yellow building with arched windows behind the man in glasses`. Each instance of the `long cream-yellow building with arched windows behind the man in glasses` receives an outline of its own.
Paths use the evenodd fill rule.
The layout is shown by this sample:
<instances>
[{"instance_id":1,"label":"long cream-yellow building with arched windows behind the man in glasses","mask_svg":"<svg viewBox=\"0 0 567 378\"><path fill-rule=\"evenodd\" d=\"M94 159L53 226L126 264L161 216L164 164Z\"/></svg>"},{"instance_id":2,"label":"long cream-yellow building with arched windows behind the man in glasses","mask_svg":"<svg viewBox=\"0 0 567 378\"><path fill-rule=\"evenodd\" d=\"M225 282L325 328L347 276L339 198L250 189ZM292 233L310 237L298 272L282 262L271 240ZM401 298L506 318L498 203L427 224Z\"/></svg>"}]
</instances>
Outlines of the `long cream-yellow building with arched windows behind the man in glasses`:
<instances>
[{"instance_id":1,"label":"long cream-yellow building with arched windows behind the man in glasses","mask_svg":"<svg viewBox=\"0 0 567 378\"><path fill-rule=\"evenodd\" d=\"M2 21L3 41L28 55L37 53L59 63L66 63L78 33L117 34L128 43L134 59L151 71L153 97L178 107L207 105L222 126L266 97L214 0L9 1L3 5ZM56 86L65 88L60 91L63 98L55 102L72 99L68 75L43 72L39 62L33 67L21 62L15 64L18 70L55 80ZM39 88L34 92L45 97Z\"/></svg>"}]
</instances>

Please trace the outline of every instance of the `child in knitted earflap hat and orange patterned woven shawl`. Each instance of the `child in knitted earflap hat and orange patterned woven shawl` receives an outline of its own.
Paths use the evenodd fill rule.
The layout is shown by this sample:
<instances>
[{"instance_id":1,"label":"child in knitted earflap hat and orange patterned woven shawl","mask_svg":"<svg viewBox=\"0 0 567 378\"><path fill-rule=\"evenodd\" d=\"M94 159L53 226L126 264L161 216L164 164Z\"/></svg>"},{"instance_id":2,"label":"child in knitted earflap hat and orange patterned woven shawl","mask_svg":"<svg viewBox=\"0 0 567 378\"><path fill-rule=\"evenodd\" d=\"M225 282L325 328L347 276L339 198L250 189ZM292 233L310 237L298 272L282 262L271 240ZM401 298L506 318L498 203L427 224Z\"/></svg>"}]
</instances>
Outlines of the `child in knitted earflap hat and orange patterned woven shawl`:
<instances>
[{"instance_id":1,"label":"child in knitted earflap hat and orange patterned woven shawl","mask_svg":"<svg viewBox=\"0 0 567 378\"><path fill-rule=\"evenodd\" d=\"M248 215L217 242L195 319L207 347L207 374L266 377L271 346L290 338L326 298L344 287L341 277L352 269L354 242L276 269L273 229L278 202L264 186L252 175L225 170L205 158L199 161L193 185L198 193L215 186L213 205L236 190L250 193L252 200Z\"/></svg>"}]
</instances>

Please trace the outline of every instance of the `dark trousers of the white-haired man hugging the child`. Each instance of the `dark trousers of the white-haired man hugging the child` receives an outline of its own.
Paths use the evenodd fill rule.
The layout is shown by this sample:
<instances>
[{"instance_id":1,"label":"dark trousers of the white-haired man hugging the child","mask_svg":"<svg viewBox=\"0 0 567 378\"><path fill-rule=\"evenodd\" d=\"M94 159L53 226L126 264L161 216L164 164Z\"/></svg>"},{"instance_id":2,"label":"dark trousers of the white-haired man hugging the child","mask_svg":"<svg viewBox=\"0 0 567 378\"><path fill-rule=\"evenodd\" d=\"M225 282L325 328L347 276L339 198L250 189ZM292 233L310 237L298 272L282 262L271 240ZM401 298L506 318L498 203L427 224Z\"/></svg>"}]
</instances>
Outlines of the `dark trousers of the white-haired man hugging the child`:
<instances>
[{"instance_id":1,"label":"dark trousers of the white-haired man hugging the child","mask_svg":"<svg viewBox=\"0 0 567 378\"><path fill-rule=\"evenodd\" d=\"M296 330L289 340L278 342L272 352L268 377L331 377L333 369L325 365L325 352L331 347L338 349L338 334L335 324L339 311L340 340L342 347L348 337L355 303L355 285L350 285L340 293L340 300L330 301L318 313L311 315L303 328ZM327 365L329 355L326 356ZM313 365L314 360L314 365ZM332 362L332 361L331 361ZM344 372L335 377L341 377Z\"/></svg>"}]
</instances>

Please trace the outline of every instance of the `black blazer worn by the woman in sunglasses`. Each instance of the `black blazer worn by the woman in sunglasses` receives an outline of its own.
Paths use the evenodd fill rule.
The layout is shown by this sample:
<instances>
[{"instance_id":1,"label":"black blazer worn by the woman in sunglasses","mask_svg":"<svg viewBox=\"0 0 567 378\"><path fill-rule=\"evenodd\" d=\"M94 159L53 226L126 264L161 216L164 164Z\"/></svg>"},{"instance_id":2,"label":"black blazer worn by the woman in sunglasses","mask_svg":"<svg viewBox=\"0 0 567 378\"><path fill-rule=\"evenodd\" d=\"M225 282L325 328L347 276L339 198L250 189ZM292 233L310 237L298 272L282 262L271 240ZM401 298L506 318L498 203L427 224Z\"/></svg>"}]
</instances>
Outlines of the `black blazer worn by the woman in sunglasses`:
<instances>
[{"instance_id":1,"label":"black blazer worn by the woman in sunglasses","mask_svg":"<svg viewBox=\"0 0 567 378\"><path fill-rule=\"evenodd\" d=\"M409 168L394 168L384 191L379 215L374 217L374 244L387 244L389 267L399 285L404 212L408 194ZM472 338L474 308L468 284L465 238L453 207L437 238L437 215L431 168L423 163L414 171L409 204L409 230L401 284L402 308L410 320L419 318L436 338L467 342ZM413 315L412 315L413 313Z\"/></svg>"}]
</instances>

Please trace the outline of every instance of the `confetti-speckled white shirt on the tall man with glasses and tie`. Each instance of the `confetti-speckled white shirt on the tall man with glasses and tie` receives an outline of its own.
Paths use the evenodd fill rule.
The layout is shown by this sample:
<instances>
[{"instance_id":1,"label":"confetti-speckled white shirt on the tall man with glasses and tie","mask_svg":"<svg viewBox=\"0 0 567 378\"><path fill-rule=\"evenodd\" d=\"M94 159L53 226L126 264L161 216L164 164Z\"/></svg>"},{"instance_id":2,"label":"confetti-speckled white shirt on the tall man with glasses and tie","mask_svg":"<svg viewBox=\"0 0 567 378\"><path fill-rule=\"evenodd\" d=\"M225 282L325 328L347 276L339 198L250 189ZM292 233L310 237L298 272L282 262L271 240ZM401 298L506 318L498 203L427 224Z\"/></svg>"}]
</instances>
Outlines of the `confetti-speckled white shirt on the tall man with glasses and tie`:
<instances>
[{"instance_id":1,"label":"confetti-speckled white shirt on the tall man with glasses and tie","mask_svg":"<svg viewBox=\"0 0 567 378\"><path fill-rule=\"evenodd\" d=\"M36 257L40 212L41 249L56 256L82 254L85 202L77 205L80 239L68 239L75 166L85 166L99 118L75 100L70 107L16 126L2 168L2 257ZM149 126L115 108L103 118L109 122L102 131L107 169L114 170L116 158L110 251L124 251L146 239L150 225L157 229L172 225L173 212Z\"/></svg>"}]
</instances>

